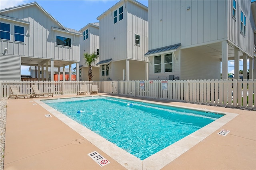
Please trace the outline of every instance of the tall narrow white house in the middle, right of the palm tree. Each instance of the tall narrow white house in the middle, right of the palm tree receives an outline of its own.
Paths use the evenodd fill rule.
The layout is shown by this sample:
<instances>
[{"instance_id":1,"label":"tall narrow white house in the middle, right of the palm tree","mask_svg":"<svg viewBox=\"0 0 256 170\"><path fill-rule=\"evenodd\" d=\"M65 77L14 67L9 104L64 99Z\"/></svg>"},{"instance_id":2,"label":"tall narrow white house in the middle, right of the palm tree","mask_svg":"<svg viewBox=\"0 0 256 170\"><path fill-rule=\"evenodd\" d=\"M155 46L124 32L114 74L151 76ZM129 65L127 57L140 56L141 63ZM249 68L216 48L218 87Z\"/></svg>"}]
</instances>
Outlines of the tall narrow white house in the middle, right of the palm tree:
<instances>
[{"instance_id":1,"label":"tall narrow white house in the middle, right of the palm tree","mask_svg":"<svg viewBox=\"0 0 256 170\"><path fill-rule=\"evenodd\" d=\"M100 21L100 80L148 78L148 8L121 0L97 18Z\"/></svg>"}]
</instances>

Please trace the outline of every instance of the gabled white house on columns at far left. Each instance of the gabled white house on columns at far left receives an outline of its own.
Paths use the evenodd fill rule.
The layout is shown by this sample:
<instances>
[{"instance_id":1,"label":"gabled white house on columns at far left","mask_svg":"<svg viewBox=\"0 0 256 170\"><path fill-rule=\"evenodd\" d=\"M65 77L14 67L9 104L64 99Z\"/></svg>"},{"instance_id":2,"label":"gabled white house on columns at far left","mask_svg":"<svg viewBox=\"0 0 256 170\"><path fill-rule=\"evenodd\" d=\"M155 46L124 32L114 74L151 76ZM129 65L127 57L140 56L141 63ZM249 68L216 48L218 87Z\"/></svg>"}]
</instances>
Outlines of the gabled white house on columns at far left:
<instances>
[{"instance_id":1,"label":"gabled white house on columns at far left","mask_svg":"<svg viewBox=\"0 0 256 170\"><path fill-rule=\"evenodd\" d=\"M0 80L21 80L21 65L50 67L52 78L54 67L69 65L71 77L71 64L79 66L82 34L62 26L37 2L3 9L0 20Z\"/></svg>"}]
</instances>

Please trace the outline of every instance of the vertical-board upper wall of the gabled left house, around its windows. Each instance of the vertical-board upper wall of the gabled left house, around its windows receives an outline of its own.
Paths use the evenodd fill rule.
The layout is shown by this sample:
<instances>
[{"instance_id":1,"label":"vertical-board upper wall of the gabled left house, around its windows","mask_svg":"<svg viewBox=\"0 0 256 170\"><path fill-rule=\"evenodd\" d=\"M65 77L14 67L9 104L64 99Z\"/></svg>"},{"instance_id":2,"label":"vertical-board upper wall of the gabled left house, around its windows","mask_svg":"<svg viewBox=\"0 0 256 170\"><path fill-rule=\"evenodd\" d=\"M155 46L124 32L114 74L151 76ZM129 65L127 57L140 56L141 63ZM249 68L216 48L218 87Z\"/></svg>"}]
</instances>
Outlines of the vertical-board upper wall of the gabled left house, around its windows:
<instances>
[{"instance_id":1,"label":"vertical-board upper wall of the gabled left house, around its windows","mask_svg":"<svg viewBox=\"0 0 256 170\"><path fill-rule=\"evenodd\" d=\"M1 15L30 22L30 24L24 24L23 26L24 43L18 43L13 41L14 25L19 26L20 23L1 18L1 22L10 24L11 28L11 40L1 40L1 45L4 45L3 48L8 48L6 55L79 61L79 36L56 30L53 31L54 34L52 35L52 27L62 30L63 28L38 6L30 5L16 10L1 12ZM56 35L71 38L71 47L56 45Z\"/></svg>"}]
</instances>

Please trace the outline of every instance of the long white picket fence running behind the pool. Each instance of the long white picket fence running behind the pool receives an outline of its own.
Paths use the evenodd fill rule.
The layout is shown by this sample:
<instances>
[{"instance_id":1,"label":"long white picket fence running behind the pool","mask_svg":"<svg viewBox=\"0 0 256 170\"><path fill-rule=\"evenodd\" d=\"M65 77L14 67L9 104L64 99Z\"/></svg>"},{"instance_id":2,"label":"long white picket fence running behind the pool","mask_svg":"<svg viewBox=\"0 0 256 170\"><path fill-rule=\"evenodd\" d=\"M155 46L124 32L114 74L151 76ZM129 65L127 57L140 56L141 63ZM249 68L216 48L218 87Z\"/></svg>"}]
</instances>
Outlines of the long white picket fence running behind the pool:
<instances>
[{"instance_id":1,"label":"long white picket fence running behind the pool","mask_svg":"<svg viewBox=\"0 0 256 170\"><path fill-rule=\"evenodd\" d=\"M98 85L99 92L164 99L228 105L234 107L256 107L255 80L160 80L160 81L1 81L0 97L10 95L10 85L18 85L20 93L31 94L31 85L38 85L41 92L54 94L76 94L81 85Z\"/></svg>"}]
</instances>

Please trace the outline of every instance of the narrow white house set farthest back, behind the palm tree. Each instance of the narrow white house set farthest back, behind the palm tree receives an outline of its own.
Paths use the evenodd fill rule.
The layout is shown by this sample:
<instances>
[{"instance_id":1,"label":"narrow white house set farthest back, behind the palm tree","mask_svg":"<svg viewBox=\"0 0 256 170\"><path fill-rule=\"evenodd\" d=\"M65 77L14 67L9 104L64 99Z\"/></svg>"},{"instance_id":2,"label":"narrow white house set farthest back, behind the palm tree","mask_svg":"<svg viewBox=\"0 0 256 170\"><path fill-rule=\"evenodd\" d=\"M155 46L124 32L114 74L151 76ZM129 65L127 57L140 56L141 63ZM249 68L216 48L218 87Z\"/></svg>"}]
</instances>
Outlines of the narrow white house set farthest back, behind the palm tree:
<instances>
[{"instance_id":1,"label":"narrow white house set farthest back, behind the palm tree","mask_svg":"<svg viewBox=\"0 0 256 170\"><path fill-rule=\"evenodd\" d=\"M92 54L96 52L98 56L100 55L100 24L90 23L84 26L79 32L83 35L80 37L80 73L81 73L81 80L88 81L88 65L85 64L84 53ZM98 63L98 60L96 63ZM96 63L92 64L92 80L100 80L100 71L99 67L96 66Z\"/></svg>"}]
</instances>

